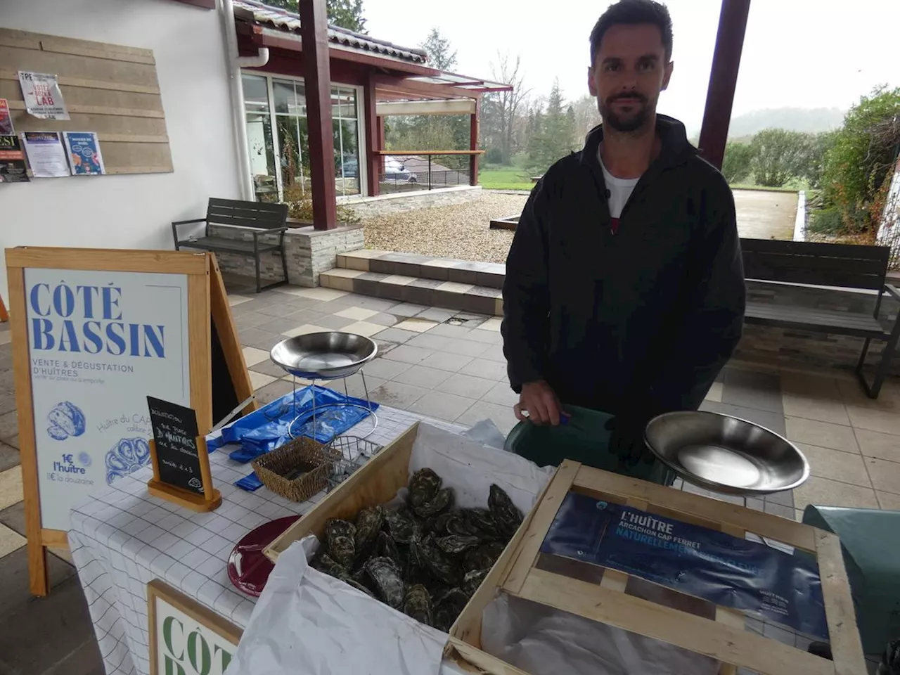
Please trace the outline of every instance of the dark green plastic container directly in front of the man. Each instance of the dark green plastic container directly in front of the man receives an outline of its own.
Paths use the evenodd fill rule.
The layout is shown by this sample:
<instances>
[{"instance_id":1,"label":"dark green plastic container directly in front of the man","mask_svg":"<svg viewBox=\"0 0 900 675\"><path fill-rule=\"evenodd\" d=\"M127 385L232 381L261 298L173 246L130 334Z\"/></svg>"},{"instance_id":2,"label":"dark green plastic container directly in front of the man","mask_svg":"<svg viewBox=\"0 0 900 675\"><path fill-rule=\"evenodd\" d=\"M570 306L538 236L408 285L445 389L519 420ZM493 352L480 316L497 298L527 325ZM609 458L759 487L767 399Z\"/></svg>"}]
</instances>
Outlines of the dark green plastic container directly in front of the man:
<instances>
[{"instance_id":1,"label":"dark green plastic container directly in front of the man","mask_svg":"<svg viewBox=\"0 0 900 675\"><path fill-rule=\"evenodd\" d=\"M538 466L557 466L564 459L570 459L642 481L671 485L675 476L662 462L654 460L653 464L646 464L642 461L635 466L619 464L618 457L608 450L609 432L605 427L612 415L577 406L565 406L565 410L572 417L559 427L519 422L509 432L504 447Z\"/></svg>"}]
</instances>

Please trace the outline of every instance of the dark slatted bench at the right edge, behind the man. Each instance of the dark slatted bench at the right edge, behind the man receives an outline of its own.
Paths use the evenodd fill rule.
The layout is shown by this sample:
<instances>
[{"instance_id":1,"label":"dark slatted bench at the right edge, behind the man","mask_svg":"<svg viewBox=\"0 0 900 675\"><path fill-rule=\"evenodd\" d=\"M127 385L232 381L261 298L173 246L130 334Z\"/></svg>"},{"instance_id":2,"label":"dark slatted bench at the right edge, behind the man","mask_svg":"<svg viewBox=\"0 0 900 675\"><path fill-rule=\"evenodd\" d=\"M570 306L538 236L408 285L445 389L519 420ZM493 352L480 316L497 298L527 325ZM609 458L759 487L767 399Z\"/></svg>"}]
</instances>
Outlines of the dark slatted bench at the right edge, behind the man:
<instances>
[{"instance_id":1,"label":"dark slatted bench at the right edge, behind the man","mask_svg":"<svg viewBox=\"0 0 900 675\"><path fill-rule=\"evenodd\" d=\"M747 302L744 316L747 323L863 338L855 373L869 398L877 399L900 338L900 316L890 328L879 319L885 295L900 302L900 291L885 283L890 248L770 239L741 239L741 248L744 277L749 281L825 286L834 290L858 288L878 293L871 315L754 301ZM869 384L863 366L872 340L886 344L875 378Z\"/></svg>"}]
</instances>

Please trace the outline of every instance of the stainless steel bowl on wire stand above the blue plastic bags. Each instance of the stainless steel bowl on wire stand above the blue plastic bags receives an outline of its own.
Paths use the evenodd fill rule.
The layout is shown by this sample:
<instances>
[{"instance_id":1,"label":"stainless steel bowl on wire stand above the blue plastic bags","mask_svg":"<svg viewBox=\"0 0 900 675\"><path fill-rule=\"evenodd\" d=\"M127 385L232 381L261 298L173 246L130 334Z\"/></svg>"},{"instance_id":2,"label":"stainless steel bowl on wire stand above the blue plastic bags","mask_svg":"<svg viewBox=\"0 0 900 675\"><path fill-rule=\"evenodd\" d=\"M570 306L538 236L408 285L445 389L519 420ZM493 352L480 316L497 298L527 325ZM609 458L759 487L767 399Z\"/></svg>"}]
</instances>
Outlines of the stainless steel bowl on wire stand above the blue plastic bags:
<instances>
[{"instance_id":1,"label":"stainless steel bowl on wire stand above the blue plastic bags","mask_svg":"<svg viewBox=\"0 0 900 675\"><path fill-rule=\"evenodd\" d=\"M337 330L282 340L269 353L272 363L308 380L336 380L356 373L378 353L374 340Z\"/></svg>"}]
</instances>

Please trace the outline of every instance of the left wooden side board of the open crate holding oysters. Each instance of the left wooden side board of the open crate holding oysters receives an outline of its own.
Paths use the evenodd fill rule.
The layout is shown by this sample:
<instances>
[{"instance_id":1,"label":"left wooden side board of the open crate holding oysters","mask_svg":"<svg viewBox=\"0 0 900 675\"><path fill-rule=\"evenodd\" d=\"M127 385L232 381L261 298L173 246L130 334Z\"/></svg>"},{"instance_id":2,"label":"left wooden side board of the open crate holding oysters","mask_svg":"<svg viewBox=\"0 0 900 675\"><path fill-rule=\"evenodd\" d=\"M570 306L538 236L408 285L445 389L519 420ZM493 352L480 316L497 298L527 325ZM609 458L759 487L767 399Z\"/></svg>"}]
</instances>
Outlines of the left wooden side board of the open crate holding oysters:
<instances>
[{"instance_id":1,"label":"left wooden side board of the open crate holding oysters","mask_svg":"<svg viewBox=\"0 0 900 675\"><path fill-rule=\"evenodd\" d=\"M361 509L391 501L397 491L410 482L410 454L418 435L417 422L330 491L324 500L266 547L264 553L269 560L275 563L288 546L304 536L315 535L321 540L329 518L353 520Z\"/></svg>"}]
</instances>

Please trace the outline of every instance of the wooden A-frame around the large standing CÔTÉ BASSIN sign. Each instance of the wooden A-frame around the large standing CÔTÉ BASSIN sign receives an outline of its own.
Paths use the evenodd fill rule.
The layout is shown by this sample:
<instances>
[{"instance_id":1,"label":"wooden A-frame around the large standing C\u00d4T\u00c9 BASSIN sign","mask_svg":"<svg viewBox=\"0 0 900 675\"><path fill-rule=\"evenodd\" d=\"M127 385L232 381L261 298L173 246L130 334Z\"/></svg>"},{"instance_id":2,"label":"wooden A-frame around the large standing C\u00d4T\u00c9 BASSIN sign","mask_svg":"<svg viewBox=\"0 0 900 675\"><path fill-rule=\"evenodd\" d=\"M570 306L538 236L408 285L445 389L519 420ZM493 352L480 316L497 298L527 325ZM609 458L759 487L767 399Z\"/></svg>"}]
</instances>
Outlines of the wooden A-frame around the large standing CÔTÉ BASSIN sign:
<instances>
[{"instance_id":1,"label":"wooden A-frame around the large standing C\u00d4T\u00c9 BASSIN sign","mask_svg":"<svg viewBox=\"0 0 900 675\"><path fill-rule=\"evenodd\" d=\"M253 392L247 365L231 318L219 266L211 254L191 251L156 251L103 248L7 248L10 323L13 335L14 383L19 419L25 530L28 538L31 594L45 596L49 590L46 547L65 548L65 530L41 524L37 441L32 409L31 366L25 297L26 269L61 269L103 272L136 272L186 275L187 336L190 374L190 407L197 413L202 433L212 427L211 322L215 321L238 401ZM211 283L211 276L213 281ZM256 409L251 402L242 411ZM208 463L207 463L208 467ZM208 483L211 487L211 480Z\"/></svg>"}]
</instances>

